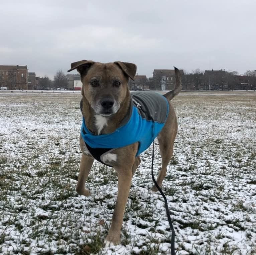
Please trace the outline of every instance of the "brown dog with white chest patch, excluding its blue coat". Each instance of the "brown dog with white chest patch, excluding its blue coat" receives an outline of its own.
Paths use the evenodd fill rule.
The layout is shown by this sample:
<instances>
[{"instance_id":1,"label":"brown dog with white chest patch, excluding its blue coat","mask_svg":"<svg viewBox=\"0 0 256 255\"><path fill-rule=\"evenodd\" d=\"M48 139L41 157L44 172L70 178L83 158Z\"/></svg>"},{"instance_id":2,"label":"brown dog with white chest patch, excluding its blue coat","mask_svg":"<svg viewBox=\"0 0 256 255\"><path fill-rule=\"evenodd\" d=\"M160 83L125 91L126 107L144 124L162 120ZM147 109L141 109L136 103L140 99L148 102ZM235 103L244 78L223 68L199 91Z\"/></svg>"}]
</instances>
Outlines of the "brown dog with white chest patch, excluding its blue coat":
<instances>
[{"instance_id":1,"label":"brown dog with white chest patch, excluding its blue coat","mask_svg":"<svg viewBox=\"0 0 256 255\"><path fill-rule=\"evenodd\" d=\"M72 71L77 69L81 75L82 87L82 114L87 128L95 135L114 132L125 118L131 102L128 79L134 78L136 65L126 62L99 63L82 60L71 64ZM181 77L175 68L176 84L172 91L163 95L171 100L181 90ZM160 153L162 157L161 171L157 183L161 186L166 175L166 167L172 157L174 139L177 133L177 119L174 108L169 103L169 113L158 134ZM127 134L129 135L129 134ZM93 165L94 158L88 151L80 135L80 147L83 152L76 190L78 194L89 196L90 190L85 188L85 182ZM106 246L120 243L121 227L125 205L128 200L132 176L140 164L136 157L138 142L115 149L105 155L105 163L111 163L118 176L117 201L112 217L112 223L105 240ZM157 191L155 185L153 191Z\"/></svg>"}]
</instances>

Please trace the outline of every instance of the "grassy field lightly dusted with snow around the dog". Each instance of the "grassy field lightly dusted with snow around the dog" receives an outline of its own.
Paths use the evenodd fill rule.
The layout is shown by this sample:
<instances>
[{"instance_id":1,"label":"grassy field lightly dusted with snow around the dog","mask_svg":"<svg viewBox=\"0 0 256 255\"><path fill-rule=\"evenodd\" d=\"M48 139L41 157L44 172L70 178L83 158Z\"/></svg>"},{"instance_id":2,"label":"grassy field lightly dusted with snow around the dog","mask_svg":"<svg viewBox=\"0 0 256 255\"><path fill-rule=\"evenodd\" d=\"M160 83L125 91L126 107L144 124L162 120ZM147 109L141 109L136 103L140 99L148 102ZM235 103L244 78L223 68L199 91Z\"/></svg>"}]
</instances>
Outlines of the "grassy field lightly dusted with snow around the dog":
<instances>
[{"instance_id":1,"label":"grassy field lightly dusted with snow around the dog","mask_svg":"<svg viewBox=\"0 0 256 255\"><path fill-rule=\"evenodd\" d=\"M170 254L152 148L141 155L121 244L104 248L117 175L98 162L75 185L80 93L0 93L0 254ZM163 191L176 254L256 254L256 93L187 92L173 100L179 130ZM157 142L155 142L157 145ZM155 146L154 174L160 169Z\"/></svg>"}]
</instances>

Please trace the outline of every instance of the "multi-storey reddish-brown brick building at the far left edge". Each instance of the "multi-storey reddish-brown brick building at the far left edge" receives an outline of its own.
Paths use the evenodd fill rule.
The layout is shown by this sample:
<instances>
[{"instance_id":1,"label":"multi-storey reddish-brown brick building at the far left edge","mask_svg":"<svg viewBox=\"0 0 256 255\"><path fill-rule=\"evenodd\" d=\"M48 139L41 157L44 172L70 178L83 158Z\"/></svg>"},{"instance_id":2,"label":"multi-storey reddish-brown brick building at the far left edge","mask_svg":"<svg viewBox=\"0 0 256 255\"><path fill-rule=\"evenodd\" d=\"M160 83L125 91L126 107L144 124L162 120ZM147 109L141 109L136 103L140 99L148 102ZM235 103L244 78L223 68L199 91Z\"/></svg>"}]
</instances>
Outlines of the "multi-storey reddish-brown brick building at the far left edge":
<instances>
[{"instance_id":1,"label":"multi-storey reddish-brown brick building at the far left edge","mask_svg":"<svg viewBox=\"0 0 256 255\"><path fill-rule=\"evenodd\" d=\"M0 65L0 86L8 89L28 89L27 66Z\"/></svg>"}]
</instances>

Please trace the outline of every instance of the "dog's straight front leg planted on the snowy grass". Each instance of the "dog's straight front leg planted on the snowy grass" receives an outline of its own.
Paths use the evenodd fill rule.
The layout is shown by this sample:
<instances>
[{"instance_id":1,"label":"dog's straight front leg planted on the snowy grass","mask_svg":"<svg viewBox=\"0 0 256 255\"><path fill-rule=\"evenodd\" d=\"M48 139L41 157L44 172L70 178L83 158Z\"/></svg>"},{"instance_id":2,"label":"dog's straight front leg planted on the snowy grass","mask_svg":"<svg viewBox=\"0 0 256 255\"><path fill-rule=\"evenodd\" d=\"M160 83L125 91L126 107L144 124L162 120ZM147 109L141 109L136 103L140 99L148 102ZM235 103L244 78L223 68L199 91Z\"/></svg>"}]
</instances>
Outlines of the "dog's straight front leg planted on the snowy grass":
<instances>
[{"instance_id":1,"label":"dog's straight front leg planted on the snowy grass","mask_svg":"<svg viewBox=\"0 0 256 255\"><path fill-rule=\"evenodd\" d=\"M120 243L124 210L128 200L132 180L131 167L126 169L116 169L116 171L118 176L117 202L112 217L112 223L105 240L106 246Z\"/></svg>"}]
</instances>

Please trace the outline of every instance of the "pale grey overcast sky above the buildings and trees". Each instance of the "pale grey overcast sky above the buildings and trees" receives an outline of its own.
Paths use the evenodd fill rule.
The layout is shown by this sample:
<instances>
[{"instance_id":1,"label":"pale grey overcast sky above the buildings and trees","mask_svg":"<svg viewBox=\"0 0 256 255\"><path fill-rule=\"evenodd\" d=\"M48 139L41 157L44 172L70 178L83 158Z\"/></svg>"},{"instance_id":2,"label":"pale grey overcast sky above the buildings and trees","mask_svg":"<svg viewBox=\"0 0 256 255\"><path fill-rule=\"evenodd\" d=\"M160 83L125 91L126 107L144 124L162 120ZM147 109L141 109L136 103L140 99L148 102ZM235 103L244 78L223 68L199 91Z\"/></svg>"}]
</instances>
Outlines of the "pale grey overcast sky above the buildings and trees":
<instances>
[{"instance_id":1,"label":"pale grey overcast sky above the buildings and trees","mask_svg":"<svg viewBox=\"0 0 256 255\"><path fill-rule=\"evenodd\" d=\"M147 77L173 65L256 69L255 0L8 0L0 24L0 65L51 79L82 59L132 62Z\"/></svg>"}]
</instances>

